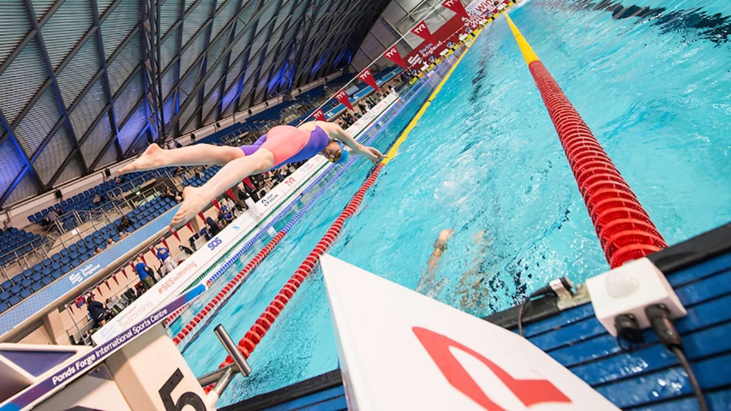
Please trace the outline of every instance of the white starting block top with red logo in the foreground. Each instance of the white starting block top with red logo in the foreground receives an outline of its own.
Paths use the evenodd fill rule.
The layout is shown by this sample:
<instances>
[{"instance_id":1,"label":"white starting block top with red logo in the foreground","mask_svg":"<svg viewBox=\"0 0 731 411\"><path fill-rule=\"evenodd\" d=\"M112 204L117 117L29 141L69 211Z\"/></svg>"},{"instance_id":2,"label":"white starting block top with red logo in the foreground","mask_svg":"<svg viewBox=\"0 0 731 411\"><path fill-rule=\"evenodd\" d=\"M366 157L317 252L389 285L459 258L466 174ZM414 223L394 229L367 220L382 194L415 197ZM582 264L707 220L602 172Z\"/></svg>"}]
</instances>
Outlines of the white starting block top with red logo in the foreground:
<instances>
[{"instance_id":1,"label":"white starting block top with red logo in the foreground","mask_svg":"<svg viewBox=\"0 0 731 411\"><path fill-rule=\"evenodd\" d=\"M329 254L320 261L349 409L618 410L518 334Z\"/></svg>"}]
</instances>

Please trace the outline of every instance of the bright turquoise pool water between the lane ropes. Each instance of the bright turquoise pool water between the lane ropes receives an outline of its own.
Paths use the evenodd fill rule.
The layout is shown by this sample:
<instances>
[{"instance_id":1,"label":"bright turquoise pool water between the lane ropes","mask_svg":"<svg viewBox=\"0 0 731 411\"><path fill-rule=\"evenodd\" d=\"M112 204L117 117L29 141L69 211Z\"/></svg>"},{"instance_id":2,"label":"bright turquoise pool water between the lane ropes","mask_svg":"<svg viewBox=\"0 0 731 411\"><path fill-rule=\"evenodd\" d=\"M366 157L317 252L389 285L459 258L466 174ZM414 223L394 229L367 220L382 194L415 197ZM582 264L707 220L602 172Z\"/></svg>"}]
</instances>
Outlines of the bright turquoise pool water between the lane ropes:
<instances>
[{"instance_id":1,"label":"bright turquoise pool water between the lane ropes","mask_svg":"<svg viewBox=\"0 0 731 411\"><path fill-rule=\"evenodd\" d=\"M533 0L510 14L668 244L731 220L727 1L645 0L635 7ZM433 83L371 130L376 147L397 137ZM240 339L369 169L366 161L355 163L211 324L222 323ZM449 229L448 248L428 270L437 235ZM474 43L330 253L478 316L515 305L556 276L583 282L607 270L504 18ZM196 374L225 357L212 330L203 330L183 355ZM219 405L338 367L322 274L303 283L249 362L254 372L235 378Z\"/></svg>"}]
</instances>

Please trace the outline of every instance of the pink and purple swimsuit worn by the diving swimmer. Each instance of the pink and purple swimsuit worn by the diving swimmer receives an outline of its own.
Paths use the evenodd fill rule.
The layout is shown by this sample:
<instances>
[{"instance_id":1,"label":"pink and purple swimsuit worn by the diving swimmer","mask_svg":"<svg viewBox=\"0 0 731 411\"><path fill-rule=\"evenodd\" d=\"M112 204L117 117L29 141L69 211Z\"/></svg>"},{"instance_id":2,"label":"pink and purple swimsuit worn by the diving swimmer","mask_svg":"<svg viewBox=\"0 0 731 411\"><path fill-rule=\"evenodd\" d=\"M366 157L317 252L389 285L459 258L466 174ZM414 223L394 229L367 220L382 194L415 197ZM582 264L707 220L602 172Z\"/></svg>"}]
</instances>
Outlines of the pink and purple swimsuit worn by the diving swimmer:
<instances>
[{"instance_id":1,"label":"pink and purple swimsuit worn by the diving swimmer","mask_svg":"<svg viewBox=\"0 0 731 411\"><path fill-rule=\"evenodd\" d=\"M259 148L271 151L274 154L274 170L285 164L311 159L324 150L328 143L330 137L320 127L308 132L292 126L276 126L251 146L240 148L247 156L254 154Z\"/></svg>"}]
</instances>

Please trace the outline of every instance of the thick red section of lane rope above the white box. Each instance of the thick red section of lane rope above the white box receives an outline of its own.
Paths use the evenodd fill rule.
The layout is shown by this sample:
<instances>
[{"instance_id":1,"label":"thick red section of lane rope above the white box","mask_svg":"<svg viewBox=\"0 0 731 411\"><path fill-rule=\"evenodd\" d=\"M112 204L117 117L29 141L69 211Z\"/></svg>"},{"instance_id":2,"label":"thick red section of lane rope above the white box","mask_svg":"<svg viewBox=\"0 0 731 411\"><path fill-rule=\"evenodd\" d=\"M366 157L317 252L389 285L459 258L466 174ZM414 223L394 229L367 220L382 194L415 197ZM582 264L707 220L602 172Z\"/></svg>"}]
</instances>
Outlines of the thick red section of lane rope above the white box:
<instances>
[{"instance_id":1,"label":"thick red section of lane rope above the white box","mask_svg":"<svg viewBox=\"0 0 731 411\"><path fill-rule=\"evenodd\" d=\"M629 184L541 61L529 69L612 268L667 247Z\"/></svg>"}]
</instances>

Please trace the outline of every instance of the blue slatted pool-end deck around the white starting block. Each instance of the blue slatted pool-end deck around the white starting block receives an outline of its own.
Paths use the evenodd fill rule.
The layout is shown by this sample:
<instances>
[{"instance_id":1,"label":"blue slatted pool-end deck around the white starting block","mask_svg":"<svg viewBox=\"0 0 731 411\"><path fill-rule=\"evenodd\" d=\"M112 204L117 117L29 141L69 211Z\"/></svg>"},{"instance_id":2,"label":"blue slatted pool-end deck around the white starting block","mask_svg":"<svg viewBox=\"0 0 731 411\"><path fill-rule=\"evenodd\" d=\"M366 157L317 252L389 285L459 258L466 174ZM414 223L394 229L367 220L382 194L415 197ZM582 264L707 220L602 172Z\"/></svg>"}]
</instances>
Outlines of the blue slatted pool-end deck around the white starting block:
<instances>
[{"instance_id":1,"label":"blue slatted pool-end deck around the white starting block","mask_svg":"<svg viewBox=\"0 0 731 411\"><path fill-rule=\"evenodd\" d=\"M710 410L731 404L731 224L649 257L667 276L688 310L675 321L683 348ZM537 304L524 328L527 338L624 410L698 410L677 358L651 330L645 342L623 352L594 317L590 303L558 312ZM540 313L539 311L543 311ZM552 312L553 311L553 312ZM511 310L486 318L512 329ZM532 321L532 323L531 323ZM344 410L338 370L222 410Z\"/></svg>"}]
</instances>

